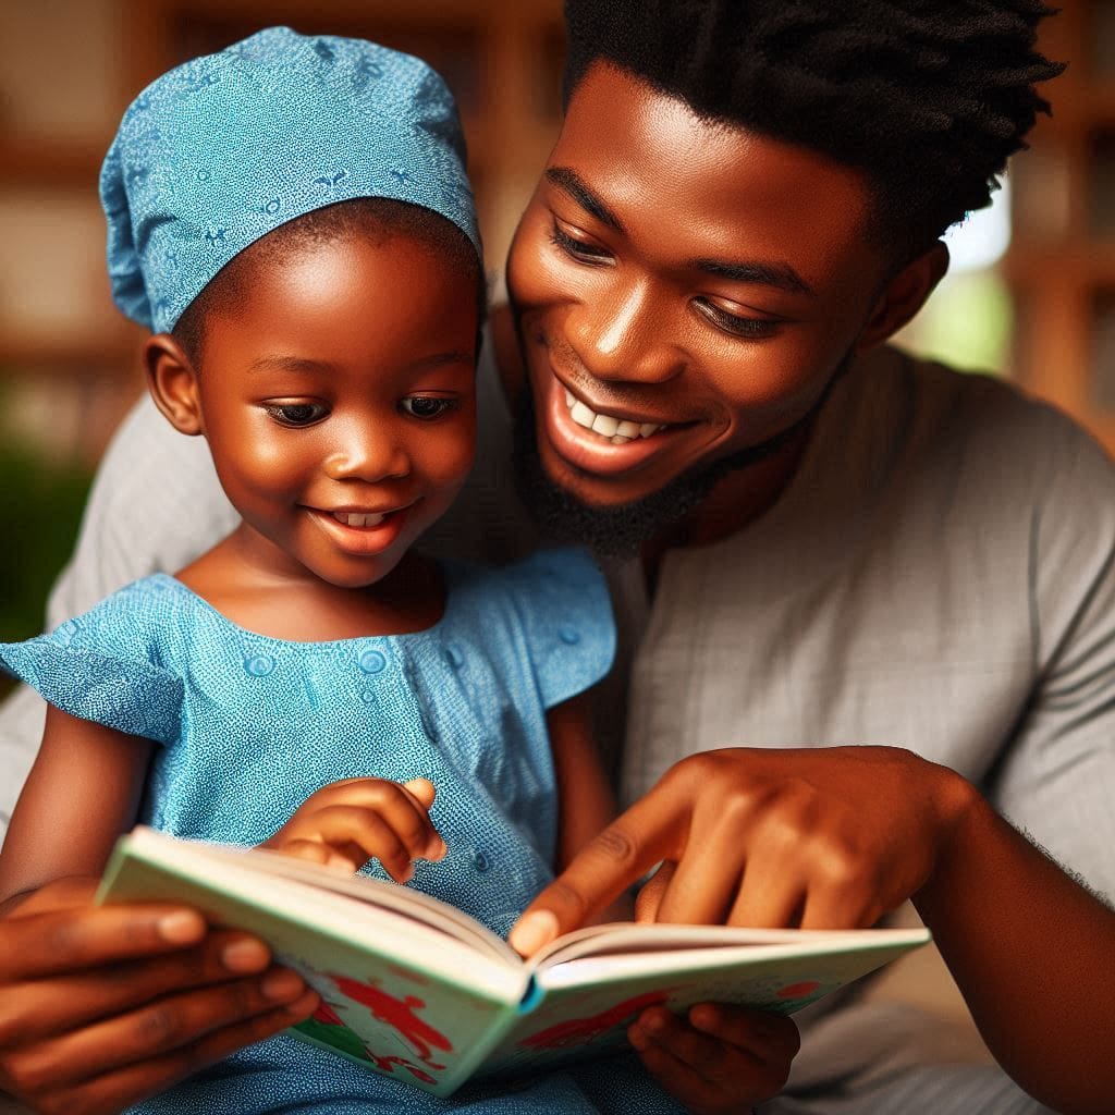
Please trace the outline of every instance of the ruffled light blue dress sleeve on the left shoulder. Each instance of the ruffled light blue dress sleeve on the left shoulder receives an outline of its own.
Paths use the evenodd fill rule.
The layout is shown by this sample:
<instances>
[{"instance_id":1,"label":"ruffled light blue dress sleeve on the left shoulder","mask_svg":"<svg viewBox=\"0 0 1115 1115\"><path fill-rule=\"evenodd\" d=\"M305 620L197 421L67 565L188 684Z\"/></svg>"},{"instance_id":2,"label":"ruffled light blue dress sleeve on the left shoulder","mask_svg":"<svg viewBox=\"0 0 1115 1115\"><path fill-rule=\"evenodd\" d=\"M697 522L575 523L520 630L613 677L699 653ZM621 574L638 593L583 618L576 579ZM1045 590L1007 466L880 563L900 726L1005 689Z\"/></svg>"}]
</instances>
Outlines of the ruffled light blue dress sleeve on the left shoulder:
<instances>
[{"instance_id":1,"label":"ruffled light blue dress sleeve on the left shoulder","mask_svg":"<svg viewBox=\"0 0 1115 1115\"><path fill-rule=\"evenodd\" d=\"M0 666L55 708L161 744L180 733L182 679L155 659L142 629L129 630L124 589L50 634L0 643Z\"/></svg>"}]
</instances>

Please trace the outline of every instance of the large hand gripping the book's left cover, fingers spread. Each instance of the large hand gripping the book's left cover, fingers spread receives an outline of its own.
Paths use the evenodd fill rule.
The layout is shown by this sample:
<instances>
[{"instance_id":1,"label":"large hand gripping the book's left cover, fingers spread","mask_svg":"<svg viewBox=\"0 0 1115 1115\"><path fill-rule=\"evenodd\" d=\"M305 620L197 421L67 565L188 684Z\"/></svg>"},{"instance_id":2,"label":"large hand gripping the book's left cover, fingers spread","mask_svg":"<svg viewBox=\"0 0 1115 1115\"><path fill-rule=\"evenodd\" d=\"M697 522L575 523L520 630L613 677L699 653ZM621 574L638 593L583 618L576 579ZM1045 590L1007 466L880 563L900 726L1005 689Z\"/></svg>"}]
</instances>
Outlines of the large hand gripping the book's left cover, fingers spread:
<instances>
[{"instance_id":1,"label":"large hand gripping the book's left cover, fingers spread","mask_svg":"<svg viewBox=\"0 0 1115 1115\"><path fill-rule=\"evenodd\" d=\"M0 917L0 1090L116 1113L308 1018L318 996L246 933L50 883Z\"/></svg>"}]
</instances>

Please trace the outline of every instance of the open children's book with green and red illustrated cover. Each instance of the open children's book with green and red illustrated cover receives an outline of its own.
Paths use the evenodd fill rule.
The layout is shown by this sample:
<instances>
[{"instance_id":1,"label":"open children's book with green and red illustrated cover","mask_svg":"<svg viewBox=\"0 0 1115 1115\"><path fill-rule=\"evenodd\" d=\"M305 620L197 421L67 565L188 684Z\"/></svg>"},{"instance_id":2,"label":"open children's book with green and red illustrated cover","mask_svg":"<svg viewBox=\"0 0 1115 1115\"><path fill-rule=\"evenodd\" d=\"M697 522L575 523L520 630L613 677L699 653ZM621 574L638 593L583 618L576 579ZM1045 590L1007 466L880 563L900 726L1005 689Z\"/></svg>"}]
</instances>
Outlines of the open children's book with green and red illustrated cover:
<instances>
[{"instance_id":1,"label":"open children's book with green and red illustrated cover","mask_svg":"<svg viewBox=\"0 0 1115 1115\"><path fill-rule=\"evenodd\" d=\"M929 940L923 929L626 923L568 933L524 962L410 888L144 827L118 842L97 899L178 901L252 931L321 995L291 1032L438 1096L620 1049L653 1004L791 1014Z\"/></svg>"}]
</instances>

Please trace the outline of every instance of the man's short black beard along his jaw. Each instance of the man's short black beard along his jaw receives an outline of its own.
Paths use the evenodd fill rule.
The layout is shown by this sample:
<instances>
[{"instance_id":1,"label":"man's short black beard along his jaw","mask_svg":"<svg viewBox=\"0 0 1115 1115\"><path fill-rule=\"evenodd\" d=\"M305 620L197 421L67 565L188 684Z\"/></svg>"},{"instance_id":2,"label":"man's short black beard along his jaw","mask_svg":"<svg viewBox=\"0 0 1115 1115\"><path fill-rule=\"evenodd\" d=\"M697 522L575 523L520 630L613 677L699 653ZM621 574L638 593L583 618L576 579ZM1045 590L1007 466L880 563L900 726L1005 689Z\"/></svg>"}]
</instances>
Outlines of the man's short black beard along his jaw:
<instances>
[{"instance_id":1,"label":"man's short black beard along his jaw","mask_svg":"<svg viewBox=\"0 0 1115 1115\"><path fill-rule=\"evenodd\" d=\"M604 507L585 503L546 474L539 457L530 377L524 377L523 390L514 408L512 450L518 496L547 540L588 546L601 556L633 558L643 543L697 507L725 476L766 460L804 433L851 362L852 352L849 352L808 410L766 440L682 473L665 487L630 503Z\"/></svg>"}]
</instances>

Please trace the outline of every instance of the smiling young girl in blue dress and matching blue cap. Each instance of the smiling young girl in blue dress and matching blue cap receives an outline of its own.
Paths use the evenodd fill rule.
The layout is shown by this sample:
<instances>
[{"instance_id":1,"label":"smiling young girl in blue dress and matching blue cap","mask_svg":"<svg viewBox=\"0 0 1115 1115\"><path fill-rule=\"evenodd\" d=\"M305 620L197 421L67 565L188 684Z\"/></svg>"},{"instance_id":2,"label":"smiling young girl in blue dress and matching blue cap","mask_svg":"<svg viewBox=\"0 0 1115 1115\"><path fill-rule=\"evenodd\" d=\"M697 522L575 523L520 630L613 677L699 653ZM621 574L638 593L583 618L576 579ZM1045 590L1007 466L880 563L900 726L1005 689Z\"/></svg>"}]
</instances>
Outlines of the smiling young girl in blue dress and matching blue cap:
<instances>
[{"instance_id":1,"label":"smiling young girl in blue dress and matching blue cap","mask_svg":"<svg viewBox=\"0 0 1115 1115\"><path fill-rule=\"evenodd\" d=\"M460 155L423 64L287 29L129 108L101 180L114 294L154 331L154 399L206 438L241 523L175 575L0 648L50 706L0 895L99 874L140 821L347 870L374 857L506 933L607 820L578 701L612 657L600 574L573 551L493 573L411 549L473 456L484 281ZM78 980L84 1041L40 1066L104 1069L89 1022L116 1025L110 981ZM317 1005L291 1000L285 1025ZM138 1109L372 1105L676 1109L634 1058L447 1104L285 1036Z\"/></svg>"}]
</instances>

